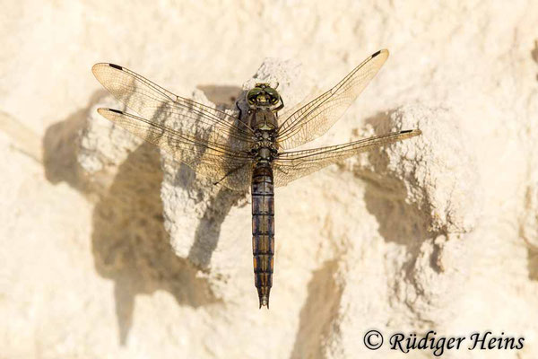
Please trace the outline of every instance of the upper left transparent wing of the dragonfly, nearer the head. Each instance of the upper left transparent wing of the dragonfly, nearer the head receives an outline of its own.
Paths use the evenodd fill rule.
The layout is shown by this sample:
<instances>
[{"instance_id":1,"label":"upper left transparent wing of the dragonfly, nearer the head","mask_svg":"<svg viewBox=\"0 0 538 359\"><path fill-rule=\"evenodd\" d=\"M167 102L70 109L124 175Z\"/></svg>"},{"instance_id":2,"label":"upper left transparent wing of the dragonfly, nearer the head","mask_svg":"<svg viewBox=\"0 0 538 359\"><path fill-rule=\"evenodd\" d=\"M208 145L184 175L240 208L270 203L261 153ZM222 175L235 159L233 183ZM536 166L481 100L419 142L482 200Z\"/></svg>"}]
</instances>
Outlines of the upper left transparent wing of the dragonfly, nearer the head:
<instances>
[{"instance_id":1,"label":"upper left transparent wing of the dragonfly, nearer the head","mask_svg":"<svg viewBox=\"0 0 538 359\"><path fill-rule=\"evenodd\" d=\"M183 131L193 136L203 133L214 144L233 151L248 150L253 144L254 131L239 118L179 97L122 66L101 63L91 71L117 100L143 118L181 122Z\"/></svg>"}]
</instances>

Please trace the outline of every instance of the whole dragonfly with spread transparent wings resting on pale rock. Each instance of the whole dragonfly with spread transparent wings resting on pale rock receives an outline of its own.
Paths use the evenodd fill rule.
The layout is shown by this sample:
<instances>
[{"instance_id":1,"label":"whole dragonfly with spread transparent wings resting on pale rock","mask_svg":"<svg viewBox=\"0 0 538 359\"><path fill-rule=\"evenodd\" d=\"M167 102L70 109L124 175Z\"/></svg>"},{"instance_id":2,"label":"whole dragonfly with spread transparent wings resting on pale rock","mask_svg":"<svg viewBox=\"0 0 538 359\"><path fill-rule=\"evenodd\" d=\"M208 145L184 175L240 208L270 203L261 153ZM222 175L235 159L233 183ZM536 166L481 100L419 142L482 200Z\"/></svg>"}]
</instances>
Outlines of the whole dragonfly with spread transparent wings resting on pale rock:
<instances>
[{"instance_id":1,"label":"whole dragonfly with spread transparent wings resting on pale rock","mask_svg":"<svg viewBox=\"0 0 538 359\"><path fill-rule=\"evenodd\" d=\"M285 186L332 163L385 144L421 135L406 129L347 144L293 150L323 135L386 62L388 51L372 54L342 81L287 112L270 83L245 93L247 110L232 116L221 109L180 97L126 67L100 63L97 80L135 114L100 108L104 118L155 144L215 185L252 197L252 247L259 308L269 309L274 265L274 188ZM237 105L237 103L236 103Z\"/></svg>"}]
</instances>

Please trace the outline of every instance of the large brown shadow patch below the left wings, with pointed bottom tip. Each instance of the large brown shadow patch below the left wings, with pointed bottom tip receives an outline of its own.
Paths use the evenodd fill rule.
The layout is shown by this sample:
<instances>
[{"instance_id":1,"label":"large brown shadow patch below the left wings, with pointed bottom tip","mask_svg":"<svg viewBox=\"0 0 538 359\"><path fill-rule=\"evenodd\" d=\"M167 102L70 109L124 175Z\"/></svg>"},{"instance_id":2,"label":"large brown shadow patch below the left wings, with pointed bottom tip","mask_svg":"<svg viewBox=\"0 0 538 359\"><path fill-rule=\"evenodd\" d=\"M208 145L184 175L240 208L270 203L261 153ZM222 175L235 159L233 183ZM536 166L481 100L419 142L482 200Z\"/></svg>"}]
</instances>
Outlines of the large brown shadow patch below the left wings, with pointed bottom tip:
<instances>
[{"instance_id":1,"label":"large brown shadow patch below the left wings, with pointed bottom tip","mask_svg":"<svg viewBox=\"0 0 538 359\"><path fill-rule=\"evenodd\" d=\"M115 282L120 341L126 343L134 297L157 290L197 308L217 302L207 280L169 246L161 202L160 154L150 144L130 153L95 206L92 250L98 272Z\"/></svg>"}]
</instances>

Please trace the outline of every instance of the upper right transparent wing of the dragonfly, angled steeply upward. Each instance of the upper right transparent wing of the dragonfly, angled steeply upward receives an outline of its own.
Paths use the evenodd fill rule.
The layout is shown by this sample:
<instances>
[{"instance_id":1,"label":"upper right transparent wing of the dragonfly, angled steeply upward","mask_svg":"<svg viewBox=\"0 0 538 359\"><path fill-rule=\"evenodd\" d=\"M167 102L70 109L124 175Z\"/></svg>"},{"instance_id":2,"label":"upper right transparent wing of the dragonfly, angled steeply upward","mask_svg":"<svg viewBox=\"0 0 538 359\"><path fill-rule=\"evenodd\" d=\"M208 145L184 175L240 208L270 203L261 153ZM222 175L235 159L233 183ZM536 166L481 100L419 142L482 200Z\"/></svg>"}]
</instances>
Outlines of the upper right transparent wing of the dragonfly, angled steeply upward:
<instances>
[{"instance_id":1,"label":"upper right transparent wing of the dragonfly, angled steeply upward","mask_svg":"<svg viewBox=\"0 0 538 359\"><path fill-rule=\"evenodd\" d=\"M388 57L382 49L364 60L331 90L308 102L284 119L278 128L277 141L291 149L323 135L359 96ZM295 108L294 108L295 109Z\"/></svg>"}]
</instances>

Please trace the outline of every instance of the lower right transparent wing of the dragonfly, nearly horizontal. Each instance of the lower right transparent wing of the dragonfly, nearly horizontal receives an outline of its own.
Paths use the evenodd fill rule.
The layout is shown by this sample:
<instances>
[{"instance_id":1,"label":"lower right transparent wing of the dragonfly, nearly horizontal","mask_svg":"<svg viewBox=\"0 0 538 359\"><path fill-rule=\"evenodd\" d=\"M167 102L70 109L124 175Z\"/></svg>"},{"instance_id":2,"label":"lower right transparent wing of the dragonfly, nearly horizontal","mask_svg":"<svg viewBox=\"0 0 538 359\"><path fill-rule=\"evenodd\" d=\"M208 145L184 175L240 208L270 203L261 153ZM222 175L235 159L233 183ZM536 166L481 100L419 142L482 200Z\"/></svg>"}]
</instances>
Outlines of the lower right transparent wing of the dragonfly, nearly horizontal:
<instances>
[{"instance_id":1,"label":"lower right transparent wing of the dragonfly, nearly horizontal","mask_svg":"<svg viewBox=\"0 0 538 359\"><path fill-rule=\"evenodd\" d=\"M419 135L421 135L421 130L412 129L369 137L349 144L280 153L273 161L274 185L277 187L285 186L292 180L297 180L357 153Z\"/></svg>"}]
</instances>

